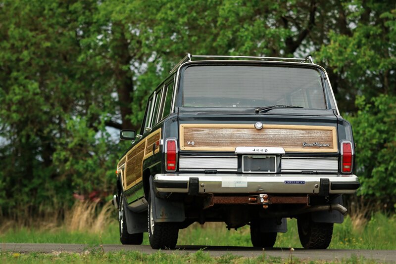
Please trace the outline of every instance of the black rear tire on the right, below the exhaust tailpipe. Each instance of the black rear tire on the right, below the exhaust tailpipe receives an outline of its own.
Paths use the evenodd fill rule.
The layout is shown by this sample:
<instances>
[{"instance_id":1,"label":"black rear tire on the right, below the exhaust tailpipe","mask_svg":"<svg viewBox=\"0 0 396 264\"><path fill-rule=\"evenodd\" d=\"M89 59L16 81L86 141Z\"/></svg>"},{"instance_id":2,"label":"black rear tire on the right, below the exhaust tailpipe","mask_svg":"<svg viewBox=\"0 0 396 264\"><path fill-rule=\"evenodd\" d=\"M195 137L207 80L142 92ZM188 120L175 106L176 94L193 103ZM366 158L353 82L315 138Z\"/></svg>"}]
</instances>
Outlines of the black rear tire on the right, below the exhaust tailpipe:
<instances>
[{"instance_id":1,"label":"black rear tire on the right, below the exhaust tailpipe","mask_svg":"<svg viewBox=\"0 0 396 264\"><path fill-rule=\"evenodd\" d=\"M306 249L326 249L333 236L334 223L317 223L310 214L297 218L298 236L301 245Z\"/></svg>"}]
</instances>

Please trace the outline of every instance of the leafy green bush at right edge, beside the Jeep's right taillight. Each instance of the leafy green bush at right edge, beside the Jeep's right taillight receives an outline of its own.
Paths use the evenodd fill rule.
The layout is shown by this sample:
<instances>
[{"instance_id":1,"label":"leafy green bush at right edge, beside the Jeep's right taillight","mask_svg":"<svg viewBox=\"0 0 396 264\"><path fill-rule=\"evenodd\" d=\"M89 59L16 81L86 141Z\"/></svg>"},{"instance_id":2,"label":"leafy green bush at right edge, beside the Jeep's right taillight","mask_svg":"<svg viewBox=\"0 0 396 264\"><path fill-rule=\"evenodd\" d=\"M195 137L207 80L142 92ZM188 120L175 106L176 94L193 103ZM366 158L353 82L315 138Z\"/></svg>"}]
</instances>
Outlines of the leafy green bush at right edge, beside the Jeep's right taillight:
<instances>
[{"instance_id":1,"label":"leafy green bush at right edge, beside the Jeep's right taillight","mask_svg":"<svg viewBox=\"0 0 396 264\"><path fill-rule=\"evenodd\" d=\"M396 96L357 97L358 112L347 116L356 143L358 195L376 198L382 209L396 203Z\"/></svg>"}]
</instances>

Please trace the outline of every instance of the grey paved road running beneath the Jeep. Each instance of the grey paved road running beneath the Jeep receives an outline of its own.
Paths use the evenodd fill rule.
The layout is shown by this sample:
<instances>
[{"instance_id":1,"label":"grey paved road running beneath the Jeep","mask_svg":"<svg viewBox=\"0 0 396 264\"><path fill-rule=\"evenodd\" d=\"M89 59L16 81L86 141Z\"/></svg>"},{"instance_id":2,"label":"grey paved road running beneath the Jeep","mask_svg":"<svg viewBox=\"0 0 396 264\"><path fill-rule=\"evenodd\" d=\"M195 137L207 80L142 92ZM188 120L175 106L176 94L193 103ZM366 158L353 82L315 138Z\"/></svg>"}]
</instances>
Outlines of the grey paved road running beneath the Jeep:
<instances>
[{"instance_id":1,"label":"grey paved road running beneath the Jeep","mask_svg":"<svg viewBox=\"0 0 396 264\"><path fill-rule=\"evenodd\" d=\"M155 253L157 250L151 249L147 245L103 245L104 251L119 251L119 250L136 250L144 253ZM0 251L12 252L84 252L89 250L90 247L82 244L16 244L16 243L3 243L0 244ZM252 247L224 247L224 246L178 246L176 250L163 250L165 253L195 253L199 249L204 249L211 256L221 256L226 253L232 253L237 256L255 257L263 253L260 248ZM265 254L272 257L282 257L287 259L290 256L289 249L265 249ZM327 249L327 250L305 250L295 249L293 257L301 260L342 260L343 258L350 258L352 255L358 257L362 256L366 259L373 259L381 262L395 262L396 263L396 250L344 250L344 249Z\"/></svg>"}]
</instances>

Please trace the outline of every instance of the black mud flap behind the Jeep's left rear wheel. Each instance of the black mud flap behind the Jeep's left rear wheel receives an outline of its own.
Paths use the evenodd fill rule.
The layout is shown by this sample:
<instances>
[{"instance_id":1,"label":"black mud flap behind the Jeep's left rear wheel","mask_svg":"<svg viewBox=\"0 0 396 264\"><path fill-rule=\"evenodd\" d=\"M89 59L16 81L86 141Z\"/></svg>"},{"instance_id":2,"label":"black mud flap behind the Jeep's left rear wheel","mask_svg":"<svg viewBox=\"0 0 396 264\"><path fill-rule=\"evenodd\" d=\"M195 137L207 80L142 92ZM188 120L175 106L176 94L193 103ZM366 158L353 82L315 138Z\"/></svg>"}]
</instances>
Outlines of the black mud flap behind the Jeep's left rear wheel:
<instances>
[{"instance_id":1,"label":"black mud flap behind the Jeep's left rear wheel","mask_svg":"<svg viewBox=\"0 0 396 264\"><path fill-rule=\"evenodd\" d=\"M186 220L183 202L169 201L156 197L152 186L152 177L150 177L149 181L154 222L183 222Z\"/></svg>"}]
</instances>

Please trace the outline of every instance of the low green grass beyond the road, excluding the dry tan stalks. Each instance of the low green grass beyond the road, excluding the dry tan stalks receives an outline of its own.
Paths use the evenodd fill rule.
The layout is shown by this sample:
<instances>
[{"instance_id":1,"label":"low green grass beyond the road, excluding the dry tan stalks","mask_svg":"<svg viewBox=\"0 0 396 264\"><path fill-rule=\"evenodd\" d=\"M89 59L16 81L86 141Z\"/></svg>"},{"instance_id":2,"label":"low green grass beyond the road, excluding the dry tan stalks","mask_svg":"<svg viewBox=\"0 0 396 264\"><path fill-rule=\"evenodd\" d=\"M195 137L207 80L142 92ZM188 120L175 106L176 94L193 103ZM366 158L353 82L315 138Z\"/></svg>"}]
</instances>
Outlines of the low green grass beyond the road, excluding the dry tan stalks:
<instances>
[{"instance_id":1,"label":"low green grass beyond the road, excluding the dry tan stalks","mask_svg":"<svg viewBox=\"0 0 396 264\"><path fill-rule=\"evenodd\" d=\"M101 233L68 232L65 227L49 230L9 229L0 234L0 243L75 243L98 245L100 238L104 244L119 244L118 225L113 221ZM335 224L330 248L333 249L396 249L396 215L387 217L377 213L364 226L353 228L352 220ZM145 233L144 244L148 245ZM225 224L193 224L179 231L178 245L203 246L247 246L250 247L248 226L228 231ZM275 247L301 248L298 239L297 221L288 220L288 232L279 233Z\"/></svg>"}]
</instances>

